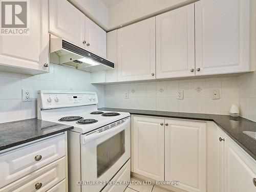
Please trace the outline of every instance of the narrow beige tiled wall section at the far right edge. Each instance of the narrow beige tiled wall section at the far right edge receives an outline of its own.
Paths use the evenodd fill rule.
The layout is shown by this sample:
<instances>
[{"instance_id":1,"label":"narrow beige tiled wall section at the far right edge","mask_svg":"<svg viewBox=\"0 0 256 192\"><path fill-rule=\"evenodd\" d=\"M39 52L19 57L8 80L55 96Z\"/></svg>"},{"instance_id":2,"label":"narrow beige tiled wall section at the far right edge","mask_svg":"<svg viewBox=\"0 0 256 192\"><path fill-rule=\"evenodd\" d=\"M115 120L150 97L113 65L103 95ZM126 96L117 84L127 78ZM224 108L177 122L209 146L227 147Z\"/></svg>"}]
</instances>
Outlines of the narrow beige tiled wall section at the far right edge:
<instances>
[{"instance_id":1,"label":"narrow beige tiled wall section at the far right edge","mask_svg":"<svg viewBox=\"0 0 256 192\"><path fill-rule=\"evenodd\" d=\"M238 78L241 116L256 121L256 71Z\"/></svg>"}]
</instances>

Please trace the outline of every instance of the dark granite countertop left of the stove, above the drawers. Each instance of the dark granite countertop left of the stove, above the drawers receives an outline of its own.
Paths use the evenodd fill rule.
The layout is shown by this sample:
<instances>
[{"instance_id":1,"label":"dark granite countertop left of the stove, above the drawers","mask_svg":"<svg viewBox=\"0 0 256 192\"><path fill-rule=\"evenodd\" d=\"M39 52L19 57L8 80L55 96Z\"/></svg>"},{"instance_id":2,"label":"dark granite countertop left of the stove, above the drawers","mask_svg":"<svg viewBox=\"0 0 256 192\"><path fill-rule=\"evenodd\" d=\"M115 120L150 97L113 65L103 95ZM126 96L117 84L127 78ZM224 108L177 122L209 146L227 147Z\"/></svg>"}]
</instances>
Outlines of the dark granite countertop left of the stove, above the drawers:
<instances>
[{"instance_id":1,"label":"dark granite countertop left of the stove, above the drawers","mask_svg":"<svg viewBox=\"0 0 256 192\"><path fill-rule=\"evenodd\" d=\"M26 119L0 123L0 151L73 129L73 126Z\"/></svg>"}]
</instances>

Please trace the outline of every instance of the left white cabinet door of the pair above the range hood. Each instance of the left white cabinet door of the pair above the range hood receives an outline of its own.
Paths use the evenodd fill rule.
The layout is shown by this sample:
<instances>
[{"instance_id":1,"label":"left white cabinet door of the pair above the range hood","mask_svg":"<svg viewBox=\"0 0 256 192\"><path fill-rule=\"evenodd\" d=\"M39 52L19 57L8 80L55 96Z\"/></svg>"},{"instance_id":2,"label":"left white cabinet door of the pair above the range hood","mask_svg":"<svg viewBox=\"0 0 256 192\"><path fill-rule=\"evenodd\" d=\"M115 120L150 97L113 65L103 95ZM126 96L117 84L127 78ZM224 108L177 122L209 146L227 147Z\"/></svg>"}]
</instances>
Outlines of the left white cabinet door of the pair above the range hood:
<instances>
[{"instance_id":1,"label":"left white cabinet door of the pair above the range hood","mask_svg":"<svg viewBox=\"0 0 256 192\"><path fill-rule=\"evenodd\" d=\"M84 14L67 0L49 1L50 32L84 48Z\"/></svg>"}]
</instances>

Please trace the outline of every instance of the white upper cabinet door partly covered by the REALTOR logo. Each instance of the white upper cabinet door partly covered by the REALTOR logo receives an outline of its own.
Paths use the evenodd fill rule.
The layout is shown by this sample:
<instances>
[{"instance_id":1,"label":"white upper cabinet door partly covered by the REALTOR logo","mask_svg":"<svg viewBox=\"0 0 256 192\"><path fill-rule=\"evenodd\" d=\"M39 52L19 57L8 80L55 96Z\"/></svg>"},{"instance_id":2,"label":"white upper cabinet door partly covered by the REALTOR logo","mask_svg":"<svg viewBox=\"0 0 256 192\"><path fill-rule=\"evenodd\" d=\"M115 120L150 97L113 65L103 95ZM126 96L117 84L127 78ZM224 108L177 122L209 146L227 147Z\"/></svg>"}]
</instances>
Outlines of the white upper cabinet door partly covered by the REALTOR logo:
<instances>
[{"instance_id":1,"label":"white upper cabinet door partly covered by the REALTOR logo","mask_svg":"<svg viewBox=\"0 0 256 192\"><path fill-rule=\"evenodd\" d=\"M39 74L48 72L48 1L28 4L28 35L0 35L0 70ZM8 67L6 67L8 66Z\"/></svg>"}]
</instances>

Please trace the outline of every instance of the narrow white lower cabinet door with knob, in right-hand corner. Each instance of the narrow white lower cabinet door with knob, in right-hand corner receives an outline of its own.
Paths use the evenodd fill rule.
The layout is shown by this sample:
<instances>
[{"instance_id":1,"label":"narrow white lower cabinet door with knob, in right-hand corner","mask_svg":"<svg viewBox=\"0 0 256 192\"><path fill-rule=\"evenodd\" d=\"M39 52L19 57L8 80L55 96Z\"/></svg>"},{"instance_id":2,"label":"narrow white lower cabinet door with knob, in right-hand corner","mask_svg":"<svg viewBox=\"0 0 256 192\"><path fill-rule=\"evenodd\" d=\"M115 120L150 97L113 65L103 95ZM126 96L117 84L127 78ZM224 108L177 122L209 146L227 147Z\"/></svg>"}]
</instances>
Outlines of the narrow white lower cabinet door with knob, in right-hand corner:
<instances>
[{"instance_id":1,"label":"narrow white lower cabinet door with knob, in right-hand corner","mask_svg":"<svg viewBox=\"0 0 256 192\"><path fill-rule=\"evenodd\" d=\"M224 134L220 128L217 128L217 178L218 178L218 192L224 192L224 150L225 150L225 139L226 134Z\"/></svg>"}]
</instances>

